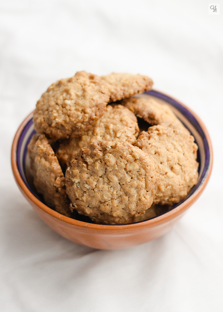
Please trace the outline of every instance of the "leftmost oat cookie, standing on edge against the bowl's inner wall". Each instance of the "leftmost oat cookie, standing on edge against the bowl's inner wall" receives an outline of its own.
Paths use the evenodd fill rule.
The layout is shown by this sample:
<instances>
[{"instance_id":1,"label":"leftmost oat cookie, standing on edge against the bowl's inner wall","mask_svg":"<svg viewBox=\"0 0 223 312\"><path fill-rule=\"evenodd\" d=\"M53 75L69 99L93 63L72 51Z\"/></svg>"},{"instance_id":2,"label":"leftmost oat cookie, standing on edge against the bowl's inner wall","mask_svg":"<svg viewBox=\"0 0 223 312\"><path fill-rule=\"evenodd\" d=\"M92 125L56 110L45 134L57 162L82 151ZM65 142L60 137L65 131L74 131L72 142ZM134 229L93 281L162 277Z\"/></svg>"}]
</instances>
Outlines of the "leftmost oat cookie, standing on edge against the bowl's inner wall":
<instances>
[{"instance_id":1,"label":"leftmost oat cookie, standing on edge against the bowl's inner wall","mask_svg":"<svg viewBox=\"0 0 223 312\"><path fill-rule=\"evenodd\" d=\"M70 217L70 201L66 194L65 178L44 134L32 136L28 153L37 192L43 195L47 206Z\"/></svg>"}]
</instances>

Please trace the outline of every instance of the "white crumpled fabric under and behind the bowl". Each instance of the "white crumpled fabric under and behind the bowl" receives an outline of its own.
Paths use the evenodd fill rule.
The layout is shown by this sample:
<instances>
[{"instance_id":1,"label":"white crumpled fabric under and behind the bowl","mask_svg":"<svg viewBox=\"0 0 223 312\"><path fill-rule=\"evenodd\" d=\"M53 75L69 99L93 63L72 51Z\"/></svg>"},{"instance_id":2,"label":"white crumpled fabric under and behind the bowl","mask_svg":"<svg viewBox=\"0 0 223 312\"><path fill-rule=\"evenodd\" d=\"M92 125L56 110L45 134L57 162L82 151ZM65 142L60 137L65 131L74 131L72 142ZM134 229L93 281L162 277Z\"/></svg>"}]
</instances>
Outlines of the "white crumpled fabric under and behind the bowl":
<instances>
[{"instance_id":1,"label":"white crumpled fabric under and behind the bowl","mask_svg":"<svg viewBox=\"0 0 223 312\"><path fill-rule=\"evenodd\" d=\"M0 310L222 311L223 2L0 2ZM14 182L13 136L47 87L78 70L151 76L204 121L208 186L165 236L120 251L54 233Z\"/></svg>"}]
</instances>

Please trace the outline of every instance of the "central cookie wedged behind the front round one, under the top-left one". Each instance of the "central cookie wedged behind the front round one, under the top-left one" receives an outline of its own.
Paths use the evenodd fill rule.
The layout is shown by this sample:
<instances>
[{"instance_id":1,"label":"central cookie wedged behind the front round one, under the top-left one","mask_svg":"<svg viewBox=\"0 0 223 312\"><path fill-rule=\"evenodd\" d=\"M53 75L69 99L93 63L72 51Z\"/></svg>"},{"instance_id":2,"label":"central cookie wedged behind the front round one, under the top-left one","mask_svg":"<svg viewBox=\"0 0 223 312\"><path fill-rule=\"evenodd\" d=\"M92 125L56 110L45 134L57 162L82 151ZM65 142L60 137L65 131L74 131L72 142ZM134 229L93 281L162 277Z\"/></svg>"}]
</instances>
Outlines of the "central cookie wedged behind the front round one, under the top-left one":
<instances>
[{"instance_id":1,"label":"central cookie wedged behind the front round one, under the top-left one","mask_svg":"<svg viewBox=\"0 0 223 312\"><path fill-rule=\"evenodd\" d=\"M74 153L92 142L112 141L134 144L139 133L136 116L122 105L107 105L105 114L84 135L63 141L56 156L62 166L68 167Z\"/></svg>"}]
</instances>

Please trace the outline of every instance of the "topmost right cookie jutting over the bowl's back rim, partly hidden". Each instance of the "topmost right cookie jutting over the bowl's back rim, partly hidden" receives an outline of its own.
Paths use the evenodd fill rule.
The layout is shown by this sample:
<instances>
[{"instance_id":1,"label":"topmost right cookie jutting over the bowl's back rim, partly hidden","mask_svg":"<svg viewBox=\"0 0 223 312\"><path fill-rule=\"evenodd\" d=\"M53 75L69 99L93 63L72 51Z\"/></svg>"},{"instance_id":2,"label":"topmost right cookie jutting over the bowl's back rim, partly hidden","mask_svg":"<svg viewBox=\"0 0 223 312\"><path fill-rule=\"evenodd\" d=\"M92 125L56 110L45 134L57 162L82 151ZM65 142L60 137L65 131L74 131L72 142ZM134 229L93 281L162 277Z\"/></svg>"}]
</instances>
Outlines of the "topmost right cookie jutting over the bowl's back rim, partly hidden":
<instances>
[{"instance_id":1,"label":"topmost right cookie jutting over the bowl's back rim, partly hidden","mask_svg":"<svg viewBox=\"0 0 223 312\"><path fill-rule=\"evenodd\" d=\"M112 73L102 76L102 80L110 91L110 102L128 98L134 94L152 89L153 81L147 76L131 75L127 73Z\"/></svg>"}]
</instances>

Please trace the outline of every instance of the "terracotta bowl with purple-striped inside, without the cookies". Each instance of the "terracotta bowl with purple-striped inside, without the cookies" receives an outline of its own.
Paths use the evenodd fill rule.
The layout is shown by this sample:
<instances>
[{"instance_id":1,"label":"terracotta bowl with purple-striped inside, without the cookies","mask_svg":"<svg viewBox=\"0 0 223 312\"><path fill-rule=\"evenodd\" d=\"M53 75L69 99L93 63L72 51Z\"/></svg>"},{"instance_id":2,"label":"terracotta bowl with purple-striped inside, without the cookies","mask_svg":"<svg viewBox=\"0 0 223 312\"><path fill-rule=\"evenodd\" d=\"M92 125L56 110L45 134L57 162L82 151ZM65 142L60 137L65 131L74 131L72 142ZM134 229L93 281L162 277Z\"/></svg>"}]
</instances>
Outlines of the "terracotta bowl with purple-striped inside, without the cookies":
<instances>
[{"instance_id":1,"label":"terracotta bowl with purple-striped inside, without the cookies","mask_svg":"<svg viewBox=\"0 0 223 312\"><path fill-rule=\"evenodd\" d=\"M33 209L54 231L78 244L99 249L121 249L154 240L182 217L201 195L211 175L212 147L209 134L196 114L179 101L155 90L145 92L171 106L177 117L190 130L198 145L199 178L187 197L171 210L141 222L123 225L101 225L65 217L47 207L31 188L27 179L27 145L35 133L31 113L20 125L12 144L12 171L16 183Z\"/></svg>"}]
</instances>

